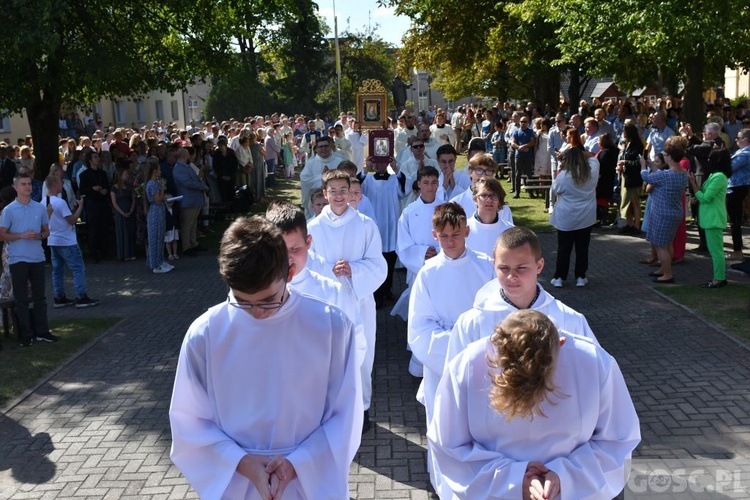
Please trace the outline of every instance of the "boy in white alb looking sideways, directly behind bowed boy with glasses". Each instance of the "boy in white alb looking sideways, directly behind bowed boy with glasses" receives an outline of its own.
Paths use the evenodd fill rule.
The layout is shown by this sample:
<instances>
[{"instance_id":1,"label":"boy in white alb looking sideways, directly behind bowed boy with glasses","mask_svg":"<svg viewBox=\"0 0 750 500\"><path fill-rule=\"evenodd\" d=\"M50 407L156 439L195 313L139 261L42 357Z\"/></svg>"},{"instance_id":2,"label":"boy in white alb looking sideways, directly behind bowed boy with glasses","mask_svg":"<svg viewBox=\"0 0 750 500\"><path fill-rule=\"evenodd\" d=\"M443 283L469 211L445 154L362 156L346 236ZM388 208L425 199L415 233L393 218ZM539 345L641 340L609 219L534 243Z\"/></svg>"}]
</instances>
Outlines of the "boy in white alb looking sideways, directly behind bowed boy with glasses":
<instances>
[{"instance_id":1,"label":"boy in white alb looking sideways, directly behind bowed boy with glasses","mask_svg":"<svg viewBox=\"0 0 750 500\"><path fill-rule=\"evenodd\" d=\"M307 221L304 212L290 201L274 200L266 209L266 219L281 230L289 255L289 263L294 264L294 276L292 276L289 286L300 293L320 299L344 311L354 324L357 359L360 364L364 362L367 341L365 340L364 325L359 317L359 302L350 283L332 279L332 269L325 269L324 267L320 273L313 270L320 267L321 259L316 258L316 256L310 258L309 250L312 236L307 233Z\"/></svg>"}]
</instances>

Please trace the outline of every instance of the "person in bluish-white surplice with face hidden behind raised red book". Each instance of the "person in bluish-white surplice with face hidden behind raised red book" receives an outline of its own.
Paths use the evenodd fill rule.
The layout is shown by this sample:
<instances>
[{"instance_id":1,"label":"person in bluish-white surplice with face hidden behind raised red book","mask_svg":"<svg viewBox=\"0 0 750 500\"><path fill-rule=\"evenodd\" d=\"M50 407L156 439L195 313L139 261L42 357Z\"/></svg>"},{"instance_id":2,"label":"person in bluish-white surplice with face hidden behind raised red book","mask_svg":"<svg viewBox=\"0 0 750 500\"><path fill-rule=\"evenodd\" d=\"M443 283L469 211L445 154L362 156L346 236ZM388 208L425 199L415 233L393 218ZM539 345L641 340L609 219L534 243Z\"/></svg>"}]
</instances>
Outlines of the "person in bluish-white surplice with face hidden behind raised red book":
<instances>
[{"instance_id":1,"label":"person in bluish-white surplice with face hidden behind raised red book","mask_svg":"<svg viewBox=\"0 0 750 500\"><path fill-rule=\"evenodd\" d=\"M390 166L395 174L386 170L385 163L375 163L375 158L367 158L368 175L362 172L357 175L362 184L362 193L367 196L375 208L375 217L380 230L383 245L383 258L388 264L388 273L383 284L375 292L375 302L382 307L386 300L393 298L393 271L396 267L396 241L398 234L398 218L401 216L399 200L411 192L412 179L398 170L396 161L391 158Z\"/></svg>"}]
</instances>

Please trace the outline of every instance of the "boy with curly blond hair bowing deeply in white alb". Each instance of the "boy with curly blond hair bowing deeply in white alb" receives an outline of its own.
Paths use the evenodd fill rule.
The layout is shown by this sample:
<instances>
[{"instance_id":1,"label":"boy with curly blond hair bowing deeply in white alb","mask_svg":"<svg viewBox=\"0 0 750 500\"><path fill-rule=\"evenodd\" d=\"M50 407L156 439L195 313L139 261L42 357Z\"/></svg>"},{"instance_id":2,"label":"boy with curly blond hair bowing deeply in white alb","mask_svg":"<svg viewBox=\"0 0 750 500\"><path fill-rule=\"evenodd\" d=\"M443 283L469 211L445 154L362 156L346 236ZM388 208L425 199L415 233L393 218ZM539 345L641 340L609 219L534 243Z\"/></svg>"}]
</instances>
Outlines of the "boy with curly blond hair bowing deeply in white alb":
<instances>
[{"instance_id":1,"label":"boy with curly blond hair bowing deeply in white alb","mask_svg":"<svg viewBox=\"0 0 750 500\"><path fill-rule=\"evenodd\" d=\"M614 358L522 310L448 364L427 439L442 500L609 500L641 436Z\"/></svg>"}]
</instances>

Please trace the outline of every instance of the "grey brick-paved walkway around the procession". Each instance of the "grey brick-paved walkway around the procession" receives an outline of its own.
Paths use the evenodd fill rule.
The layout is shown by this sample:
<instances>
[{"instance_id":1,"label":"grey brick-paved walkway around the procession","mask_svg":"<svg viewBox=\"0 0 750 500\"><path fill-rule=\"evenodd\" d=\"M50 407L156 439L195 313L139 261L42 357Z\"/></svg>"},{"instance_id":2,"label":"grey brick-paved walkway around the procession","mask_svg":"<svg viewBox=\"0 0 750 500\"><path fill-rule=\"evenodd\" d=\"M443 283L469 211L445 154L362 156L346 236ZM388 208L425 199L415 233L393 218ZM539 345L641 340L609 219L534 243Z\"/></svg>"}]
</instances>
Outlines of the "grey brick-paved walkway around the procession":
<instances>
[{"instance_id":1,"label":"grey brick-paved walkway around the procession","mask_svg":"<svg viewBox=\"0 0 750 500\"><path fill-rule=\"evenodd\" d=\"M547 283L555 235L541 236ZM750 485L747 345L654 293L645 276L649 269L636 263L646 248L642 239L596 233L590 285L553 289L587 315L618 359L635 400L643 442L634 469L645 472L634 475L626 498L646 498L658 487L672 493L688 476L700 483L687 488L695 498L748 498L739 491ZM226 294L215 256L183 258L161 276L147 272L143 260L88 271L91 295L102 305L50 311L51 317L124 319L0 415L0 499L195 498L169 460L167 410L187 326ZM706 281L710 260L690 256L675 276L680 283ZM426 499L424 412L414 400L417 382L406 370L405 324L385 311L378 321L375 426L352 465L351 496ZM18 355L31 360L36 349L54 345ZM655 469L666 471L666 480ZM714 491L706 493L706 485ZM693 497L682 492L674 498Z\"/></svg>"}]
</instances>

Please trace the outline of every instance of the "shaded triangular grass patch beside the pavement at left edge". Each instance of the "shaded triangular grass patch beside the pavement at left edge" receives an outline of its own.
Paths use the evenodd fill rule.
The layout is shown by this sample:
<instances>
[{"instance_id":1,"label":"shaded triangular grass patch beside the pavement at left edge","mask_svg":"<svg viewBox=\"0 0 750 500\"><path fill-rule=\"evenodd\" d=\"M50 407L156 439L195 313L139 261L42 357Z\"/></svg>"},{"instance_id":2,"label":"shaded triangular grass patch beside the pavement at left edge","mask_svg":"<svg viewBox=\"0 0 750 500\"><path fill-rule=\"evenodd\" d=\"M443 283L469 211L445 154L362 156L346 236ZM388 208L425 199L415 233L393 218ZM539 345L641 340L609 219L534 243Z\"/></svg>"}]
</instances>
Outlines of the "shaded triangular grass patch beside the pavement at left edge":
<instances>
[{"instance_id":1,"label":"shaded triangular grass patch beside the pavement at left edge","mask_svg":"<svg viewBox=\"0 0 750 500\"><path fill-rule=\"evenodd\" d=\"M31 347L20 347L15 339L3 339L3 350L0 351L0 408L65 364L118 321L120 318L110 317L51 321L51 330L60 337L55 344L36 342Z\"/></svg>"}]
</instances>

